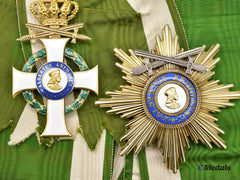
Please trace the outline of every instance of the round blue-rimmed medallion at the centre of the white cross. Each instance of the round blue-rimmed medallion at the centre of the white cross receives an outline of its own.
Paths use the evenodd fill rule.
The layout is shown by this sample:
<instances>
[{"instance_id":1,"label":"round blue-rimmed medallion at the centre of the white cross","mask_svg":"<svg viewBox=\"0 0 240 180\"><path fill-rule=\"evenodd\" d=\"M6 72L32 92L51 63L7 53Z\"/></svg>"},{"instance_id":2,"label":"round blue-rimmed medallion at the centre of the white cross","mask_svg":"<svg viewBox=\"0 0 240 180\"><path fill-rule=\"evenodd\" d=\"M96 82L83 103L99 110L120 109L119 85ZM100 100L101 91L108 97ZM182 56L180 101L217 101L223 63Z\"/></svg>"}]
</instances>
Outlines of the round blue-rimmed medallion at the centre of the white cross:
<instances>
[{"instance_id":1,"label":"round blue-rimmed medallion at the centre of the white cross","mask_svg":"<svg viewBox=\"0 0 240 180\"><path fill-rule=\"evenodd\" d=\"M49 74L51 74L51 72L53 71L58 73L57 74L58 79L55 80L56 81L55 83L57 84L57 86L60 86L58 85L58 83L61 83L61 81L63 81L63 77L65 78L65 84L64 86L60 86L61 88L59 90L50 89L46 85L46 82L49 83L49 80L48 81L44 80L45 77L50 78ZM60 72L61 72L61 75L60 75ZM38 92L44 97L46 97L47 99L51 99L51 100L63 99L72 91L74 87L73 72L71 68L64 63L55 62L55 61L46 63L37 72L36 85L37 85Z\"/></svg>"}]
</instances>

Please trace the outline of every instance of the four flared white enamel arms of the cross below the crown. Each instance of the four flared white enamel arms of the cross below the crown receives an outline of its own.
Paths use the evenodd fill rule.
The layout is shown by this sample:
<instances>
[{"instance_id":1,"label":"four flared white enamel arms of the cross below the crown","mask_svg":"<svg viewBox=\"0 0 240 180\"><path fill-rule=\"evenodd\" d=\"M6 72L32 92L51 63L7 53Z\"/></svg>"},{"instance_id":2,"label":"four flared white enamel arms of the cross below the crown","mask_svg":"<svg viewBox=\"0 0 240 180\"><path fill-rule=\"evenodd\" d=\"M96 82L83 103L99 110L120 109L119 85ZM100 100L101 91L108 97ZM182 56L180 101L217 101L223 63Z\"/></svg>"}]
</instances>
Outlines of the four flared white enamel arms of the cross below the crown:
<instances>
[{"instance_id":1,"label":"four flared white enamel arms of the cross below the crown","mask_svg":"<svg viewBox=\"0 0 240 180\"><path fill-rule=\"evenodd\" d=\"M63 63L64 48L68 40L69 38L41 39L46 48L48 63ZM74 88L88 89L98 94L98 66L88 71L74 72L73 76ZM36 78L37 73L13 68L13 96L24 90L37 89ZM64 81L64 78L61 81ZM47 99L47 124L41 136L71 136L65 122L64 99Z\"/></svg>"}]
</instances>

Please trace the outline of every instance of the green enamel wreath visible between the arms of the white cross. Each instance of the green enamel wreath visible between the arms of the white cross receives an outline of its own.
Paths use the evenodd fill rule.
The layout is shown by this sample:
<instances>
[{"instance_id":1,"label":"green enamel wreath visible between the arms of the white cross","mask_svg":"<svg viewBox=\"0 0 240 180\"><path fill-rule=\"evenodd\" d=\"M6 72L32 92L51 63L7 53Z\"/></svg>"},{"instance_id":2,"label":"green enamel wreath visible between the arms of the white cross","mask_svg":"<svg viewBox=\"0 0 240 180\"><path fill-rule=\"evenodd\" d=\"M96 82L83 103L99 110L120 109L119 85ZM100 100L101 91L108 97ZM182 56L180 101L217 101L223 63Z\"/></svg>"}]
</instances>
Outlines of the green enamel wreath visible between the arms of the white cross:
<instances>
[{"instance_id":1,"label":"green enamel wreath visible between the arms of the white cross","mask_svg":"<svg viewBox=\"0 0 240 180\"><path fill-rule=\"evenodd\" d=\"M71 59L80 69L80 71L88 70L88 66L84 59L72 49L66 48L64 55ZM24 72L31 72L33 66L42 58L46 56L46 50L43 48L38 52L34 53L28 61L25 63L23 67ZM46 115L47 114L47 107L42 105L38 100L36 100L30 90L22 92L24 99L27 103L34 108L37 112ZM65 106L64 111L65 114L70 112L76 111L79 107L83 105L85 100L87 99L89 94L89 90L82 89L78 95L78 97L70 104Z\"/></svg>"}]
</instances>

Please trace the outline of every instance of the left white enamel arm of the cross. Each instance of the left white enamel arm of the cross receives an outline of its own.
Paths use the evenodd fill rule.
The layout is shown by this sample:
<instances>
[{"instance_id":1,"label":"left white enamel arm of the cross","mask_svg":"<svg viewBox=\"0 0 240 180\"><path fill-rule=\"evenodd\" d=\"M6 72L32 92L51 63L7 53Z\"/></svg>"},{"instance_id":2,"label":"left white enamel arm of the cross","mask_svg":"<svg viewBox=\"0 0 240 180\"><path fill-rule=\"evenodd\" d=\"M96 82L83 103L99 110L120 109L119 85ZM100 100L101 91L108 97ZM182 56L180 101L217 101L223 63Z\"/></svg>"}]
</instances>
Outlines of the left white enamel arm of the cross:
<instances>
[{"instance_id":1,"label":"left white enamel arm of the cross","mask_svg":"<svg viewBox=\"0 0 240 180\"><path fill-rule=\"evenodd\" d=\"M12 96L15 97L18 93L24 90L37 89L36 73L22 72L13 67L12 70Z\"/></svg>"}]
</instances>

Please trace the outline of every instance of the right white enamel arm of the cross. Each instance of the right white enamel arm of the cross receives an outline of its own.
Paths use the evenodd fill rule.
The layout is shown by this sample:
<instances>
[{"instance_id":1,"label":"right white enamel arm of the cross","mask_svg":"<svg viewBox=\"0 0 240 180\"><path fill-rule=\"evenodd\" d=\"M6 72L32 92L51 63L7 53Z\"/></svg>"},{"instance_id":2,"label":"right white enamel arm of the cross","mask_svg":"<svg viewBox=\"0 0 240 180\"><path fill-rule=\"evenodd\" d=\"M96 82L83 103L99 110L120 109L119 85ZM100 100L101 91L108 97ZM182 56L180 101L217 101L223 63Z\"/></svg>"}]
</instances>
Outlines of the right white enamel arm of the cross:
<instances>
[{"instance_id":1,"label":"right white enamel arm of the cross","mask_svg":"<svg viewBox=\"0 0 240 180\"><path fill-rule=\"evenodd\" d=\"M98 66L81 72L74 72L74 88L89 89L98 94Z\"/></svg>"}]
</instances>

